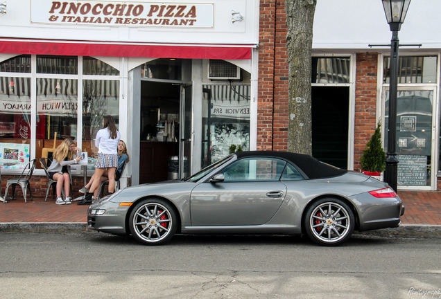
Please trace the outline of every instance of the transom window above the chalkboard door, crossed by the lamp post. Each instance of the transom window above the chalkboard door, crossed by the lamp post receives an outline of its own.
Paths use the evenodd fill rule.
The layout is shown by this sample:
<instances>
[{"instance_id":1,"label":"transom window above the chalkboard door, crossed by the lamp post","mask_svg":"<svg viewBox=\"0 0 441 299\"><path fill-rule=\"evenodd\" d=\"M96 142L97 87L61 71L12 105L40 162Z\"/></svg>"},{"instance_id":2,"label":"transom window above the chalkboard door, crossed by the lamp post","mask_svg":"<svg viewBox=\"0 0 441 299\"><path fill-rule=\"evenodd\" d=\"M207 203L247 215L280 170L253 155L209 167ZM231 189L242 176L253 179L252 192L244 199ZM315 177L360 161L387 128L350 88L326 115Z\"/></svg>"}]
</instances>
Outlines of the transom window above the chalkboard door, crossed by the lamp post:
<instances>
[{"instance_id":1,"label":"transom window above the chalkboard door, crossed by the lamp post","mask_svg":"<svg viewBox=\"0 0 441 299\"><path fill-rule=\"evenodd\" d=\"M436 83L436 56L399 57L398 83ZM384 57L383 83L389 83L390 57Z\"/></svg>"}]
</instances>

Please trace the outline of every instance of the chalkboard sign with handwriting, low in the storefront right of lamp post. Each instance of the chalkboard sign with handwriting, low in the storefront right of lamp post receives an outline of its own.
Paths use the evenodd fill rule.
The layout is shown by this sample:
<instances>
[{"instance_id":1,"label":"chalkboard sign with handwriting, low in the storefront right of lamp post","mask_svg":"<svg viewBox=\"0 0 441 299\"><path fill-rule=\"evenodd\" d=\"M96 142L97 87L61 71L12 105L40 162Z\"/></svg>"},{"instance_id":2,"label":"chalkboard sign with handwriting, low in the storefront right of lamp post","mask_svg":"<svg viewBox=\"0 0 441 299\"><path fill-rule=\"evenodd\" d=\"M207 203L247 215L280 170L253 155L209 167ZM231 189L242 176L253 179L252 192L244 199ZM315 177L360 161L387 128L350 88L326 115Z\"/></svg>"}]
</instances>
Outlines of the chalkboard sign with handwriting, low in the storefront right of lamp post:
<instances>
[{"instance_id":1,"label":"chalkboard sign with handwriting, low in the storefront right of lamp post","mask_svg":"<svg viewBox=\"0 0 441 299\"><path fill-rule=\"evenodd\" d=\"M397 155L398 185L427 185L427 156Z\"/></svg>"}]
</instances>

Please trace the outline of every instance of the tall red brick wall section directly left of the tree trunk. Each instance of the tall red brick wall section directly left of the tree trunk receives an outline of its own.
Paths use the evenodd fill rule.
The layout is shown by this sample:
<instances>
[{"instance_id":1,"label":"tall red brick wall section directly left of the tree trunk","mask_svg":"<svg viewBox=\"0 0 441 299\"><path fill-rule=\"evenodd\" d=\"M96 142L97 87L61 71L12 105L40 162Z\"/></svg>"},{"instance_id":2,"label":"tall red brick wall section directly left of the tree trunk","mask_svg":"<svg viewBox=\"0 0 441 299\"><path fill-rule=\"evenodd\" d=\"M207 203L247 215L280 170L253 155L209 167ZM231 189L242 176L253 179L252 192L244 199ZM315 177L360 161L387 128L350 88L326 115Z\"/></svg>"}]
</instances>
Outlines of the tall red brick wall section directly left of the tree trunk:
<instances>
[{"instance_id":1,"label":"tall red brick wall section directly left of the tree trunk","mask_svg":"<svg viewBox=\"0 0 441 299\"><path fill-rule=\"evenodd\" d=\"M288 55L284 1L261 0L257 149L286 150Z\"/></svg>"}]
</instances>

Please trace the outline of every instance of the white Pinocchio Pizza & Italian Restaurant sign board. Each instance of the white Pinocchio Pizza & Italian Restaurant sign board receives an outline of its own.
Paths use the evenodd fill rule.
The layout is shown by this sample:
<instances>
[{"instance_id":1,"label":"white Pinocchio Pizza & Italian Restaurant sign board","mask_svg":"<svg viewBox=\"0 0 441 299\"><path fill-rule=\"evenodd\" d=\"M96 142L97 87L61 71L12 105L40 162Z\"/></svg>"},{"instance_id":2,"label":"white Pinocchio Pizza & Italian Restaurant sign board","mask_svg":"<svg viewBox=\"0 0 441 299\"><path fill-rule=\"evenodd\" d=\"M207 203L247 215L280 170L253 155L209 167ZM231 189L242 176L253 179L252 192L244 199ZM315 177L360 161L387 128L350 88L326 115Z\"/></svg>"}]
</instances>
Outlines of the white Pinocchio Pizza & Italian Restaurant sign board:
<instances>
[{"instance_id":1,"label":"white Pinocchio Pizza & Italian Restaurant sign board","mask_svg":"<svg viewBox=\"0 0 441 299\"><path fill-rule=\"evenodd\" d=\"M32 2L31 21L35 23L106 25L212 27L212 3L132 3L96 1Z\"/></svg>"}]
</instances>

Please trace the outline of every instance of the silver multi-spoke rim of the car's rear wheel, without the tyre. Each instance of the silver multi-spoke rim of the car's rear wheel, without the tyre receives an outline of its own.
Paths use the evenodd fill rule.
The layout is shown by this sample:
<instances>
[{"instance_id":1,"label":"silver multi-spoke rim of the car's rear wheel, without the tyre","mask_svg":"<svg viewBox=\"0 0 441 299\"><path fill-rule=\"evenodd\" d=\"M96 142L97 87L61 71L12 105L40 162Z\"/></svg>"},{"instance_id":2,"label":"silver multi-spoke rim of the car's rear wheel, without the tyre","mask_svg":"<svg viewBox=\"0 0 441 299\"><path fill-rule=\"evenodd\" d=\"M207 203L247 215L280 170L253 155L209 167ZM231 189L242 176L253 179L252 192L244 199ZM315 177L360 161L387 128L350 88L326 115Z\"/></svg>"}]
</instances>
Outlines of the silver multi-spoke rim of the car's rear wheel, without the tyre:
<instances>
[{"instance_id":1,"label":"silver multi-spoke rim of the car's rear wheel, without the tyre","mask_svg":"<svg viewBox=\"0 0 441 299\"><path fill-rule=\"evenodd\" d=\"M343 240L352 230L349 212L345 207L332 201L319 204L309 217L309 226L313 235L325 243Z\"/></svg>"}]
</instances>

